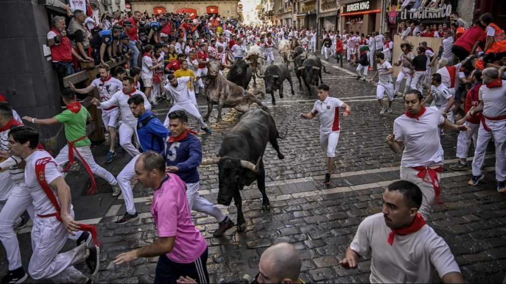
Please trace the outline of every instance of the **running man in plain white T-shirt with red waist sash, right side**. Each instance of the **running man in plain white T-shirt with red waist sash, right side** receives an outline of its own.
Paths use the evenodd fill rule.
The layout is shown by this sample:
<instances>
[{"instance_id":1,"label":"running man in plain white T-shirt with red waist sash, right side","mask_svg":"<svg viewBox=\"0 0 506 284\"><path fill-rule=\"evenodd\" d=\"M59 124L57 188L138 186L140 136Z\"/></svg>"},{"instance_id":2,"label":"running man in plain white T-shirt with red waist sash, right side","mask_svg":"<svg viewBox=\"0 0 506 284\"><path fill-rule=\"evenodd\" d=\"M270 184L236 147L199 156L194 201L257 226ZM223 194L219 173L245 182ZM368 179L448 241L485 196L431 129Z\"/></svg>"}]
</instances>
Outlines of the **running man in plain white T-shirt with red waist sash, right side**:
<instances>
[{"instance_id":1,"label":"running man in plain white T-shirt with red waist sash, right side","mask_svg":"<svg viewBox=\"0 0 506 284\"><path fill-rule=\"evenodd\" d=\"M418 212L428 218L434 200L439 202L444 153L439 128L447 131L467 131L467 125L455 125L445 119L438 108L425 107L421 92L406 91L406 112L395 119L394 134L386 143L395 153L402 153L400 177L416 184L423 194Z\"/></svg>"}]
</instances>

